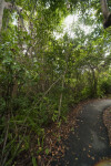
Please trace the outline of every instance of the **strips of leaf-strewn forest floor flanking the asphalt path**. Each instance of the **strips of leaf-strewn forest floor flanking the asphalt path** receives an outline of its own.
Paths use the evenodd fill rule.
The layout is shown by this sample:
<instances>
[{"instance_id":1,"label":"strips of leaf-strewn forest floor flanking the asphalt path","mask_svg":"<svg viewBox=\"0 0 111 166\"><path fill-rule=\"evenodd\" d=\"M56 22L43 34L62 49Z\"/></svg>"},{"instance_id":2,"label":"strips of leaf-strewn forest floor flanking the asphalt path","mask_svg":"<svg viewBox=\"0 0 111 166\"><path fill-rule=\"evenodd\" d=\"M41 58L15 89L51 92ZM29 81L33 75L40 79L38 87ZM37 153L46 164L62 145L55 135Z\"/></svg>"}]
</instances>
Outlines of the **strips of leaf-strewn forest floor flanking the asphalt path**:
<instances>
[{"instance_id":1,"label":"strips of leaf-strewn forest floor flanking the asphalt path","mask_svg":"<svg viewBox=\"0 0 111 166\"><path fill-rule=\"evenodd\" d=\"M102 98L103 100L103 98ZM50 146L50 154L47 156L47 159L49 162L48 165L50 165L50 162L53 160L53 158L61 158L64 156L64 152L65 152L65 147L63 145L63 142L68 138L70 132L71 133L74 133L74 128L75 127L79 127L77 125L77 121L78 121L78 116L79 114L81 113L82 111L82 107L89 103L92 103L94 101L101 101L101 98L98 98L98 100L89 100L89 101L85 101L85 102L81 102L75 108L73 108L69 115L68 115L68 120L65 123L62 123L60 127L58 127L58 125L53 126L51 132L50 132L50 135L47 137L47 145L49 144ZM110 139L110 145L111 145L111 107L105 110L103 112L103 121L104 121L104 125L107 126L108 128L108 133L109 133L109 139ZM54 136L57 137L53 137L52 133L56 133ZM50 141L50 142L49 142ZM63 142L62 142L63 141ZM46 163L47 164L47 163Z\"/></svg>"}]
</instances>

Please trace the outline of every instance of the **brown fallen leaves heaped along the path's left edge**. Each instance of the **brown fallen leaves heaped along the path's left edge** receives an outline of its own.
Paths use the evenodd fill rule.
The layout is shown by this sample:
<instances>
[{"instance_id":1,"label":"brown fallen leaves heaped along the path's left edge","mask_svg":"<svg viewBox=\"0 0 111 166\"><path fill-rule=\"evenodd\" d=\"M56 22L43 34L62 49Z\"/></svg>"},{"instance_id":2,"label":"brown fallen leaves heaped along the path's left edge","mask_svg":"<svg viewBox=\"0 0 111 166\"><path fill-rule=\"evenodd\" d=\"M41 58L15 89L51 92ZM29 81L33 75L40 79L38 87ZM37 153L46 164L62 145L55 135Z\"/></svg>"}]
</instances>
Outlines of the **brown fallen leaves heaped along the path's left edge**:
<instances>
[{"instance_id":1,"label":"brown fallen leaves heaped along the path's left edge","mask_svg":"<svg viewBox=\"0 0 111 166\"><path fill-rule=\"evenodd\" d=\"M62 123L61 126L58 127L58 124L54 123L51 127L46 128L44 151L40 154L42 160L44 160L44 165L49 163L48 160L63 157L65 149L69 149L69 147L63 146L62 139L67 139L70 132L74 134L74 128L79 127L77 126L77 115L80 113L83 104L79 104L73 112L70 112L67 122ZM40 156L38 156L38 160L41 160ZM75 159L78 160L77 157Z\"/></svg>"}]
</instances>

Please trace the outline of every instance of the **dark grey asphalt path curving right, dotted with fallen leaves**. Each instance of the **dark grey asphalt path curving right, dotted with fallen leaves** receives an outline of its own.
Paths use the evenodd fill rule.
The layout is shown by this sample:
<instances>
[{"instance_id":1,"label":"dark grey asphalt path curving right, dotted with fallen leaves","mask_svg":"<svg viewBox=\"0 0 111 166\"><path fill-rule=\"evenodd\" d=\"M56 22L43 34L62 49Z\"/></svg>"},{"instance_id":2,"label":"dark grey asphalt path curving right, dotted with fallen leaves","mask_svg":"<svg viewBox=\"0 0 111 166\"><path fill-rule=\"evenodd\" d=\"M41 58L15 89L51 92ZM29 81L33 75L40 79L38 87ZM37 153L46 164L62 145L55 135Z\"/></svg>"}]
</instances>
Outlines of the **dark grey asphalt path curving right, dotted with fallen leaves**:
<instances>
[{"instance_id":1,"label":"dark grey asphalt path curving right, dotted with fallen leaves","mask_svg":"<svg viewBox=\"0 0 111 166\"><path fill-rule=\"evenodd\" d=\"M64 157L52 162L51 166L94 166L101 159L111 157L108 131L103 124L103 111L109 106L111 100L95 101L83 106L74 131L64 141Z\"/></svg>"}]
</instances>

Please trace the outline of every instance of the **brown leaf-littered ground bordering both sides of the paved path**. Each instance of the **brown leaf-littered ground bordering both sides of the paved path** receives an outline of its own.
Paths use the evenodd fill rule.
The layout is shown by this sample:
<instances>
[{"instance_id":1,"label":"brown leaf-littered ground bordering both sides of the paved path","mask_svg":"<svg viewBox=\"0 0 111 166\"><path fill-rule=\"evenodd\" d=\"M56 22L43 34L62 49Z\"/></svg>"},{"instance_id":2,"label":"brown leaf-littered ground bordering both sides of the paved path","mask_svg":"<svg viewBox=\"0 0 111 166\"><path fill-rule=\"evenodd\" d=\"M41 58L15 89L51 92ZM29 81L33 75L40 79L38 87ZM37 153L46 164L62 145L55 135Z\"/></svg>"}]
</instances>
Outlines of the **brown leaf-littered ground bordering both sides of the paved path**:
<instances>
[{"instance_id":1,"label":"brown leaf-littered ground bordering both sides of the paved path","mask_svg":"<svg viewBox=\"0 0 111 166\"><path fill-rule=\"evenodd\" d=\"M58 123L51 125L49 128L46 128L46 141L44 141L44 147L48 149L48 154L43 153L38 156L38 164L41 165L50 165L51 160L54 158L61 158L64 156L65 146L63 145L63 142L68 138L69 133L74 133L74 128L79 127L77 125L78 116L81 113L81 110L83 105L92 103L94 101L101 101L99 100L89 100L85 102L81 102L78 104L72 111L69 112L67 121L64 123L61 123L59 126ZM111 112L109 112L109 108L104 111L103 114L104 124L108 128L110 143L111 143ZM63 141L63 142L62 142Z\"/></svg>"}]
</instances>

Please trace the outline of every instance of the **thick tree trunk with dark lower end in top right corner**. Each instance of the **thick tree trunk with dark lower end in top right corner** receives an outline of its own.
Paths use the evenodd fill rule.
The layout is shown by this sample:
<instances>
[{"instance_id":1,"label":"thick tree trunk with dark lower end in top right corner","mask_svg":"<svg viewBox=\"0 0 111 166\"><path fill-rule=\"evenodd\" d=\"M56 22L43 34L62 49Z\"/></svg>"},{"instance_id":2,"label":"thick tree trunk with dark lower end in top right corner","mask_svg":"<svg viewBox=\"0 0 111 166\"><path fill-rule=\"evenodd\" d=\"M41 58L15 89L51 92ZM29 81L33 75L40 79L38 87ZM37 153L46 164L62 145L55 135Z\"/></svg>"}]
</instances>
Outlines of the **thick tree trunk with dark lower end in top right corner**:
<instances>
[{"instance_id":1,"label":"thick tree trunk with dark lower end in top right corner","mask_svg":"<svg viewBox=\"0 0 111 166\"><path fill-rule=\"evenodd\" d=\"M111 25L111 13L109 12L107 0L101 0L101 10L104 18L103 27L105 29Z\"/></svg>"}]
</instances>

